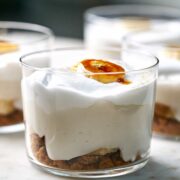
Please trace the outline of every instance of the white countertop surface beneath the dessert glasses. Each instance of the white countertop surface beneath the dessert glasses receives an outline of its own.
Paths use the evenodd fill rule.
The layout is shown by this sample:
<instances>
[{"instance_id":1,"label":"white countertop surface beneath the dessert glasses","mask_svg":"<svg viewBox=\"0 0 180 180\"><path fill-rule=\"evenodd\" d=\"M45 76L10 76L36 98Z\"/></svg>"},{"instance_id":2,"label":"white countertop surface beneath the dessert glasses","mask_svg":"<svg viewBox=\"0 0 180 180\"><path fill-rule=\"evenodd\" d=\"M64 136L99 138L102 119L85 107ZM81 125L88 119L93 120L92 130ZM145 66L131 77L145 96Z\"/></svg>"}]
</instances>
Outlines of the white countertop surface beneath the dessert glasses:
<instances>
[{"instance_id":1,"label":"white countertop surface beneath the dessert glasses","mask_svg":"<svg viewBox=\"0 0 180 180\"><path fill-rule=\"evenodd\" d=\"M77 40L58 38L56 47L80 46ZM149 163L121 180L180 180L180 141L153 138ZM24 133L0 135L0 180L65 180L33 167L26 157Z\"/></svg>"}]
</instances>

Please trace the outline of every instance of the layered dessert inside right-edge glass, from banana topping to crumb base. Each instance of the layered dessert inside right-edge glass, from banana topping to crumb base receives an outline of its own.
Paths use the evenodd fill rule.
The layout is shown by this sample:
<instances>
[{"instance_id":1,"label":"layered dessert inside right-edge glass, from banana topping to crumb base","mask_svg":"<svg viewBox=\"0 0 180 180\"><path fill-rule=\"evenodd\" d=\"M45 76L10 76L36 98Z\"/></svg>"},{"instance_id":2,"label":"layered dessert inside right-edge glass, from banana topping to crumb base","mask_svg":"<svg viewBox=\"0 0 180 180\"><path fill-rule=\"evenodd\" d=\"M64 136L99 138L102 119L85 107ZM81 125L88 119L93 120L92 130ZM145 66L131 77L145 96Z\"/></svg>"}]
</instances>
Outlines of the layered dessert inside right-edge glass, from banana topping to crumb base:
<instances>
[{"instance_id":1,"label":"layered dessert inside right-edge glass, from banana topping to crumb base","mask_svg":"<svg viewBox=\"0 0 180 180\"><path fill-rule=\"evenodd\" d=\"M180 35L164 44L160 58L153 130L167 137L180 137ZM161 60L160 59L160 60Z\"/></svg>"}]
</instances>

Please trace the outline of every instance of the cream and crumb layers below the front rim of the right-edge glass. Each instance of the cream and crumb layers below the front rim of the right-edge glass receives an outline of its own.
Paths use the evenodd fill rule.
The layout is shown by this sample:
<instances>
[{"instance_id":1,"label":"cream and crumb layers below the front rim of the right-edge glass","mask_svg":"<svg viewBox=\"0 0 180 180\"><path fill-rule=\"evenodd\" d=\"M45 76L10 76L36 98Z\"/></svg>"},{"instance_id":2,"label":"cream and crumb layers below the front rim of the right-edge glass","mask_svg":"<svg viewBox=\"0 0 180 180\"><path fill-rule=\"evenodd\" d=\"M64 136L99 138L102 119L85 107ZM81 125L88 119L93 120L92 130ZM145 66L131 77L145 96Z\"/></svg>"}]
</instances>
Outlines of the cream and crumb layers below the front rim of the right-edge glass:
<instances>
[{"instance_id":1,"label":"cream and crumb layers below the front rim of the right-edge glass","mask_svg":"<svg viewBox=\"0 0 180 180\"><path fill-rule=\"evenodd\" d=\"M161 75L157 83L153 130L158 134L180 137L180 75Z\"/></svg>"}]
</instances>

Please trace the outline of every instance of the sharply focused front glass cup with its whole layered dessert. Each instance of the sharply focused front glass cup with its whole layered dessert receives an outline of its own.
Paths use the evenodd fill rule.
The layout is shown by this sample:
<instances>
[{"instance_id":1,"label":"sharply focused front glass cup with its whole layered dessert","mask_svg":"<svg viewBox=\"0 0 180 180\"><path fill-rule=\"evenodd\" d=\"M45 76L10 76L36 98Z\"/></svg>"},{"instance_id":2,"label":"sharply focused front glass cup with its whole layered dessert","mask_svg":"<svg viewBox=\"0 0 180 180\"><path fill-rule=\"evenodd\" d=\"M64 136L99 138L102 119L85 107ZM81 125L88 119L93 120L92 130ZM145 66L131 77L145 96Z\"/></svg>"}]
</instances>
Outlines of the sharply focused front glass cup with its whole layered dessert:
<instances>
[{"instance_id":1,"label":"sharply focused front glass cup with its whole layered dessert","mask_svg":"<svg viewBox=\"0 0 180 180\"><path fill-rule=\"evenodd\" d=\"M55 49L21 57L29 160L81 178L128 174L148 161L158 59L138 51Z\"/></svg>"}]
</instances>

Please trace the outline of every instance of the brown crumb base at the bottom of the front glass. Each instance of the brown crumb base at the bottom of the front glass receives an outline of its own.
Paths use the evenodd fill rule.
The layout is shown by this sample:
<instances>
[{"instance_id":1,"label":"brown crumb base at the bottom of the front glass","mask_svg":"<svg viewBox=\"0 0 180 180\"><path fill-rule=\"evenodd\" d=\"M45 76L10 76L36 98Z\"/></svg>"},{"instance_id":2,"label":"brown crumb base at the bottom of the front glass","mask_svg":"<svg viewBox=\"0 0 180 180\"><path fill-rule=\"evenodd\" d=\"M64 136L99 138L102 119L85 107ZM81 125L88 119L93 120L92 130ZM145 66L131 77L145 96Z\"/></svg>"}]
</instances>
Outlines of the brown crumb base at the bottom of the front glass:
<instances>
[{"instance_id":1,"label":"brown crumb base at the bottom of the front glass","mask_svg":"<svg viewBox=\"0 0 180 180\"><path fill-rule=\"evenodd\" d=\"M117 166L128 165L132 162L125 162L121 157L119 149L107 153L105 155L97 155L89 153L83 156L75 157L70 160L51 160L48 157L45 138L39 137L37 134L31 134L31 148L34 157L42 164L67 170L102 170ZM97 152L97 151L96 151ZM139 160L137 156L136 160Z\"/></svg>"}]
</instances>

